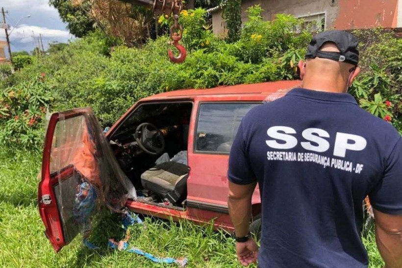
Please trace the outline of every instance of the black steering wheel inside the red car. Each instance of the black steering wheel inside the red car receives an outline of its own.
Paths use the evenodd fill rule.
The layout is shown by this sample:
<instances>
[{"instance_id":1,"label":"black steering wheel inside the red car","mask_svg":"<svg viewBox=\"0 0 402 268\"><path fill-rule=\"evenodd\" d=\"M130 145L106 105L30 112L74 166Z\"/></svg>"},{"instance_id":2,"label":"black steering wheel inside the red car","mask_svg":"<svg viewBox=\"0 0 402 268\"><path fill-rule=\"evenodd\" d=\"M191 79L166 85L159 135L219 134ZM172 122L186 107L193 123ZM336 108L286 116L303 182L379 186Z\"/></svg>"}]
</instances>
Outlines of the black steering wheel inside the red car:
<instances>
[{"instance_id":1,"label":"black steering wheel inside the red car","mask_svg":"<svg viewBox=\"0 0 402 268\"><path fill-rule=\"evenodd\" d=\"M150 123L138 125L134 137L138 146L149 155L159 155L165 149L165 138L162 132Z\"/></svg>"}]
</instances>

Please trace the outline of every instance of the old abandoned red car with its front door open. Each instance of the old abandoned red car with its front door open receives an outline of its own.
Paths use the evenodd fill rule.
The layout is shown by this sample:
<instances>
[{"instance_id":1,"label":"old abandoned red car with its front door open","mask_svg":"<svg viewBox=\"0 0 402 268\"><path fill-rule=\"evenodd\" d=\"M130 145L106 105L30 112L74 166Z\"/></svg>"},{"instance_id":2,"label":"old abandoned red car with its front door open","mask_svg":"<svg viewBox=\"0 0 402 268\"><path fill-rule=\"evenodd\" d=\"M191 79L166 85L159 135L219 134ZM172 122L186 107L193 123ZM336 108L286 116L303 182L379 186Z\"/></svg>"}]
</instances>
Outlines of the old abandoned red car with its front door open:
<instances>
[{"instance_id":1,"label":"old abandoned red car with its front door open","mask_svg":"<svg viewBox=\"0 0 402 268\"><path fill-rule=\"evenodd\" d=\"M101 203L112 211L214 220L232 230L227 163L245 114L300 81L176 90L144 98L103 134L91 108L53 113L45 140L39 210L56 251L89 228ZM262 119L262 118L261 118ZM252 214L260 213L260 195Z\"/></svg>"}]
</instances>

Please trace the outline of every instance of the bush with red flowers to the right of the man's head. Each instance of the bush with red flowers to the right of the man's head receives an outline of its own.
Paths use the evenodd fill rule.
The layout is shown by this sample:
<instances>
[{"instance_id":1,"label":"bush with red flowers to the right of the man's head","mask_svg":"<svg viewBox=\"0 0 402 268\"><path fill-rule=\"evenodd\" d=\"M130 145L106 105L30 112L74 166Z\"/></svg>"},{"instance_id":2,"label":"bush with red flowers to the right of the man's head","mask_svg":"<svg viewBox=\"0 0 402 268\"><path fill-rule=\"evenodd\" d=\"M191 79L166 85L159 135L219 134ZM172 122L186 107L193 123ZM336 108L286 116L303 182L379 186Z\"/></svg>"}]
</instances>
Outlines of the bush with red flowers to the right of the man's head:
<instances>
[{"instance_id":1,"label":"bush with red flowers to the right of the man's head","mask_svg":"<svg viewBox=\"0 0 402 268\"><path fill-rule=\"evenodd\" d=\"M361 107L390 121L402 133L402 39L383 28L353 34L359 39L362 73L350 92Z\"/></svg>"}]
</instances>

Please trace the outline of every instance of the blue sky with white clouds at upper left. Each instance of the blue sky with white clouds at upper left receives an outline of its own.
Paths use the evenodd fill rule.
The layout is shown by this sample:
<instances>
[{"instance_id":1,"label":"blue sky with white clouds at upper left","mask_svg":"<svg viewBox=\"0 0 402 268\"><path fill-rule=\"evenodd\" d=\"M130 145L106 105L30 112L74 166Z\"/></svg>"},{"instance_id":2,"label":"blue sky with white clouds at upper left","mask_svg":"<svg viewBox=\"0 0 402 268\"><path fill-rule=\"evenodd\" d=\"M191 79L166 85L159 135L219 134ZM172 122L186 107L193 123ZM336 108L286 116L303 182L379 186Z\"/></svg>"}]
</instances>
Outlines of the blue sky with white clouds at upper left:
<instances>
[{"instance_id":1,"label":"blue sky with white clouds at upper left","mask_svg":"<svg viewBox=\"0 0 402 268\"><path fill-rule=\"evenodd\" d=\"M49 0L0 0L0 8L4 7L8 11L5 19L11 26L9 37L12 52L33 51L38 46L39 34L42 35L45 50L51 42L66 43L74 38L61 21L57 9L49 6L48 2ZM28 15L29 18L26 17ZM2 16L0 19L2 22ZM36 38L35 43L33 35ZM6 41L3 29L0 29L0 40ZM8 54L7 49L5 51Z\"/></svg>"}]
</instances>

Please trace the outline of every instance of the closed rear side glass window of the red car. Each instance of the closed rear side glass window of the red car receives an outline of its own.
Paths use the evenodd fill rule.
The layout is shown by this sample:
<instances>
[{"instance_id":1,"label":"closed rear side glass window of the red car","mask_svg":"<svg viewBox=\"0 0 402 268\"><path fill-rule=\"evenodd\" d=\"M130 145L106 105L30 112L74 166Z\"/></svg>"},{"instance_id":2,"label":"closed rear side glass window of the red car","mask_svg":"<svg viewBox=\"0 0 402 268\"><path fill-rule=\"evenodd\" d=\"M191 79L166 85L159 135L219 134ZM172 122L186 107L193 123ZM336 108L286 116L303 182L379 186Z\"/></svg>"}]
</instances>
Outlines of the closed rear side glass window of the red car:
<instances>
[{"instance_id":1,"label":"closed rear side glass window of the red car","mask_svg":"<svg viewBox=\"0 0 402 268\"><path fill-rule=\"evenodd\" d=\"M242 118L258 103L201 104L196 151L229 153Z\"/></svg>"}]
</instances>

